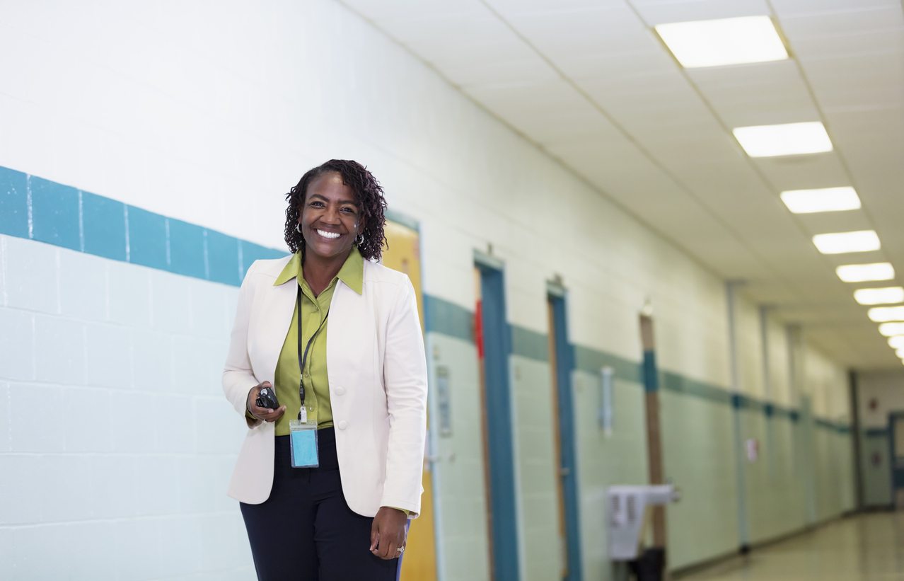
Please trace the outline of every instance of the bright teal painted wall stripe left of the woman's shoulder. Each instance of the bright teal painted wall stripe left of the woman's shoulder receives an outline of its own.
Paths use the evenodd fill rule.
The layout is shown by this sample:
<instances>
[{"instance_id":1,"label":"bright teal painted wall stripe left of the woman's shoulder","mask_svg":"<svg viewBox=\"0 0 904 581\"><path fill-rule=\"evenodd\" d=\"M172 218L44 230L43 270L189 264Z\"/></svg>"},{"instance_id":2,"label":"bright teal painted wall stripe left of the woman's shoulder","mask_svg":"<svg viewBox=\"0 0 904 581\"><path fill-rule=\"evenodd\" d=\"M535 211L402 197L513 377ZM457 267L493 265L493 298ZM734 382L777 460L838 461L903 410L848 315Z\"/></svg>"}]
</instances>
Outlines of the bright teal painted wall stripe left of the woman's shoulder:
<instances>
[{"instance_id":1,"label":"bright teal painted wall stripe left of the woman's shoulder","mask_svg":"<svg viewBox=\"0 0 904 581\"><path fill-rule=\"evenodd\" d=\"M8 167L0 233L232 286L252 262L287 254Z\"/></svg>"}]
</instances>

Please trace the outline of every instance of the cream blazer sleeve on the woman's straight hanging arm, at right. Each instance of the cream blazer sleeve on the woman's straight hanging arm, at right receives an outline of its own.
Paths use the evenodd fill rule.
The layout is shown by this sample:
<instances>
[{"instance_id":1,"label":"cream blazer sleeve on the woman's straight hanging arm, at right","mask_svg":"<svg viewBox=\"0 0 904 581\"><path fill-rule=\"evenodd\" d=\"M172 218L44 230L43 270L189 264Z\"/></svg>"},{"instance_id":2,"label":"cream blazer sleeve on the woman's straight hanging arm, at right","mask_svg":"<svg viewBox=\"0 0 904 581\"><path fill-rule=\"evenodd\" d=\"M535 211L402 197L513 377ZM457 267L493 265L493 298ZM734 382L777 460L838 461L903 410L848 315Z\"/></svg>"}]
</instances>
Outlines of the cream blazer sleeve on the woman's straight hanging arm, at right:
<instances>
[{"instance_id":1,"label":"cream blazer sleeve on the woman's straight hanging arm, at right","mask_svg":"<svg viewBox=\"0 0 904 581\"><path fill-rule=\"evenodd\" d=\"M386 480L380 506L420 512L427 440L427 357L418 301L408 277L398 286L386 326L383 381L390 415Z\"/></svg>"}]
</instances>

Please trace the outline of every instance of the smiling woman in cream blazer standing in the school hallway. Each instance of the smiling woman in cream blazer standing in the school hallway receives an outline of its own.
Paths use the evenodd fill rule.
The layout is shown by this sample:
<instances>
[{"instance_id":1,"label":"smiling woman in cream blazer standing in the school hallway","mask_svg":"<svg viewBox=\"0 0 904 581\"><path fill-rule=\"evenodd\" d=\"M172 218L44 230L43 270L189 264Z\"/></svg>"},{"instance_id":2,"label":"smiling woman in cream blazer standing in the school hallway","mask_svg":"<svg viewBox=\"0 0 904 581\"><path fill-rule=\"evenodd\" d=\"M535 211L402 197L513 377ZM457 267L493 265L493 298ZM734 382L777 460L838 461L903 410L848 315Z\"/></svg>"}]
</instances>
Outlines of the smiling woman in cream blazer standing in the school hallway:
<instances>
[{"instance_id":1,"label":"smiling woman in cream blazer standing in the school hallway","mask_svg":"<svg viewBox=\"0 0 904 581\"><path fill-rule=\"evenodd\" d=\"M293 254L251 266L223 372L249 427L229 493L259 579L394 579L422 491L417 297L373 262L386 203L365 167L328 161L286 197Z\"/></svg>"}]
</instances>

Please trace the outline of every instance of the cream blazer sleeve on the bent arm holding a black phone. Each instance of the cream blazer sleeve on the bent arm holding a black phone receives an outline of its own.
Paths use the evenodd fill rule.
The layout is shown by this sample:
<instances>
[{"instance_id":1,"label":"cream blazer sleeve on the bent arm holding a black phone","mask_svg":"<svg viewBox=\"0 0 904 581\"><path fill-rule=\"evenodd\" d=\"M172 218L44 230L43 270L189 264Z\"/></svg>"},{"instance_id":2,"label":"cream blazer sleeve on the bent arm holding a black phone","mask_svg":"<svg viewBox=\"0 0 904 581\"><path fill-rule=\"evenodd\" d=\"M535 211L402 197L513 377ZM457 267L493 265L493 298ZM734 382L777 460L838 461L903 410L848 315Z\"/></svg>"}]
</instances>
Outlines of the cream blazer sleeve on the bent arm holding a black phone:
<instances>
[{"instance_id":1,"label":"cream blazer sleeve on the bent arm holding a black phone","mask_svg":"<svg viewBox=\"0 0 904 581\"><path fill-rule=\"evenodd\" d=\"M252 420L245 415L248 405L248 393L251 388L257 386L259 381L251 369L251 360L248 356L248 325L251 314L251 304L254 300L253 282L258 262L251 264L245 280L241 282L239 289L238 307L235 312L235 322L232 324L229 352L226 355L226 364L223 367L222 386L226 399L235 408L235 411L245 418L249 428L262 424L260 420Z\"/></svg>"}]
</instances>

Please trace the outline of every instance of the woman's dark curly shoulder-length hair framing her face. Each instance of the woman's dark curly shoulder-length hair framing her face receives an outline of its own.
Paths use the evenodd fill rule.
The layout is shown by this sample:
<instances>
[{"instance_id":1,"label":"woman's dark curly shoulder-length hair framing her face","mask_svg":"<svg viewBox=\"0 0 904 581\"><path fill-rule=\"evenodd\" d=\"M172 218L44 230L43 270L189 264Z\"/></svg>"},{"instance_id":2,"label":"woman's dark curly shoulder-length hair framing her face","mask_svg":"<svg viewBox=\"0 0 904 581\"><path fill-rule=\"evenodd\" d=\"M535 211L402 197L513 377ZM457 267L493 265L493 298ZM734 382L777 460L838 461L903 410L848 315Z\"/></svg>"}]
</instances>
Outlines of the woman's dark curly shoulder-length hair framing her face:
<instances>
[{"instance_id":1,"label":"woman's dark curly shoulder-length hair framing her face","mask_svg":"<svg viewBox=\"0 0 904 581\"><path fill-rule=\"evenodd\" d=\"M295 227L301 206L305 203L307 187L317 177L335 172L342 176L345 186L352 188L354 203L364 218L363 242L358 244L358 252L366 260L379 260L386 245L383 236L383 225L386 224L386 200L383 188L377 178L357 161L351 159L330 159L322 166L307 170L297 186L286 195L286 243L292 253L301 252L301 260L305 261L305 238Z\"/></svg>"}]
</instances>

